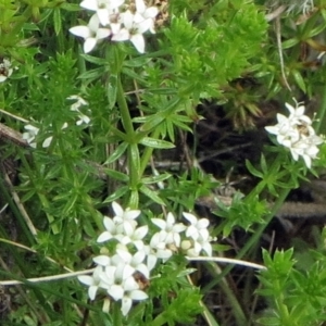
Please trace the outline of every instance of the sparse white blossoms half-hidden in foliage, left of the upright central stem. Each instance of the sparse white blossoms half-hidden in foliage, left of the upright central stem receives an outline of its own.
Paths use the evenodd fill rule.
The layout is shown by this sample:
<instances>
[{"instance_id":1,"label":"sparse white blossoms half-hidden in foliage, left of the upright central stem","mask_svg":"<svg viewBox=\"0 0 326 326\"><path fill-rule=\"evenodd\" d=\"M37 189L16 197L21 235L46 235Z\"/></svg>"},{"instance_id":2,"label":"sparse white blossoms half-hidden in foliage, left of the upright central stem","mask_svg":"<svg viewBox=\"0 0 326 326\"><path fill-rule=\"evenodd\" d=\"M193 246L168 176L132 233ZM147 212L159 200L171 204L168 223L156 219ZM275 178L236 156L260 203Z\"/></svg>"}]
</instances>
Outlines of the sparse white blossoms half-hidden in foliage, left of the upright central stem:
<instances>
[{"instance_id":1,"label":"sparse white blossoms half-hidden in foliage, left of the upright central stem","mask_svg":"<svg viewBox=\"0 0 326 326\"><path fill-rule=\"evenodd\" d=\"M67 100L74 100L75 101L71 105L71 111L74 111L74 112L77 113L78 120L76 121L76 125L77 126L80 126L82 124L88 125L90 123L89 116L85 115L79 110L80 106L88 105L88 102L86 102L82 97L76 96L76 95L70 96L67 98ZM68 126L68 124L64 123L62 125L61 129L65 129L65 128L67 128L67 126ZM25 133L23 133L23 139L25 139L30 147L36 148L37 143L36 143L35 139L36 139L36 136L39 133L39 128L34 126L34 125L30 125L30 124L25 125L24 128L25 128ZM51 145L52 139L53 139L52 136L47 137L42 142L42 148L48 148Z\"/></svg>"}]
</instances>

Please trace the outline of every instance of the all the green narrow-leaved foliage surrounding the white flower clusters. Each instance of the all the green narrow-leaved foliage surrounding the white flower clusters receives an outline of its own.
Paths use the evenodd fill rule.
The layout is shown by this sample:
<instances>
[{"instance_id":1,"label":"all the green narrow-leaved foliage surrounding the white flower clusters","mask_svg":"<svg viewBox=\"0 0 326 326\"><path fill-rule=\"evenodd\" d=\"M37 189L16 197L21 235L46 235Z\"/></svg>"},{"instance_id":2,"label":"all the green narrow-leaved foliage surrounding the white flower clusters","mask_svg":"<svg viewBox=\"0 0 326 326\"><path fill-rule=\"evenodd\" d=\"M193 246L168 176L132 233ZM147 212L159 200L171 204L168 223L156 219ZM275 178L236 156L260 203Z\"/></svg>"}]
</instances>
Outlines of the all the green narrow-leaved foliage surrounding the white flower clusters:
<instances>
[{"instance_id":1,"label":"all the green narrow-leaved foliage surrounding the white flower clusters","mask_svg":"<svg viewBox=\"0 0 326 326\"><path fill-rule=\"evenodd\" d=\"M1 220L5 246L1 242L0 256L10 255L14 264L1 261L0 274L25 281L22 287L28 288L28 294L12 290L14 304L8 321L49 326L82 325L84 318L100 326L115 325L117 319L135 326L193 324L209 308L201 305L203 294L186 278L192 269L177 255L155 269L146 288L150 299L135 304L123 322L120 303L117 313L101 312L105 294L86 303L87 290L76 279L42 285L26 278L89 268L93 255L100 254L96 239L114 200L124 208L146 208L147 220L141 218L151 225L149 220L156 215L150 209L162 206L178 220L181 212L192 212L200 199L214 197L221 183L196 166L196 146L193 154L183 153L188 166L181 162L166 171L156 168L155 162L186 147L185 134L203 118L196 109L204 100L224 104L236 127L254 127L255 118L264 114L260 103L265 99L284 102L293 96L324 93L325 3L318 1L302 17L298 9L305 2L297 7L286 2L294 7L279 16L276 36L274 22L266 20L273 3L173 0L164 26L151 38L146 35L147 53L136 53L130 42L108 38L91 54L83 54L84 40L67 30L85 25L88 14L80 12L79 1L73 2L0 0L0 64L8 59L13 68L10 76L0 72L8 77L0 83L1 124L17 133L26 131L26 125L39 129L35 148L23 146L22 139L2 145L1 138L1 158L13 158L20 167L14 187L8 186L1 168L1 205L9 204L18 233L13 237L11 226ZM305 55L303 49L310 53ZM82 97L87 104L72 110L71 96ZM316 121L323 133L325 112L324 99ZM90 123L80 122L80 114ZM223 217L214 221L216 241L237 228L252 235L239 258L259 244L287 193L308 174L302 160L294 162L288 151L275 146L263 151L259 163L246 162L256 186L246 196L236 192L230 205L216 200L215 214ZM325 145L314 164L311 172L318 176L326 164ZM215 243L213 248L229 247ZM324 250L314 252L305 267L296 265L293 255L293 250L276 251L273 258L263 252L267 271L259 276L259 293L268 309L259 318L262 325L321 325L326 318ZM203 268L213 279L227 274L227 267L224 275L217 268ZM225 293L237 300L230 291ZM241 304L235 301L230 301L237 303L233 313L243 321Z\"/></svg>"}]
</instances>

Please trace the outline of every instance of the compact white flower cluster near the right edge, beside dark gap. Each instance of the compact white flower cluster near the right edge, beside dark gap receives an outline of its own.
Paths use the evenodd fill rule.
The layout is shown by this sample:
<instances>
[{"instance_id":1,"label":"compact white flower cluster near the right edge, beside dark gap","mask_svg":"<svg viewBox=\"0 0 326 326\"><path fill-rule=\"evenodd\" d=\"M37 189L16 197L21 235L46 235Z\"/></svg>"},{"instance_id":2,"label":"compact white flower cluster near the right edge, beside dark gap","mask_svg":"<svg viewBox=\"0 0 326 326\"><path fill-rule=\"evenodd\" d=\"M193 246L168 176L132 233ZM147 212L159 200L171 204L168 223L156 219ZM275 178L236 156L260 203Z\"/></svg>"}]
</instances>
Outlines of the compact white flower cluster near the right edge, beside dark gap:
<instances>
[{"instance_id":1,"label":"compact white flower cluster near the right edge, beside dark gap","mask_svg":"<svg viewBox=\"0 0 326 326\"><path fill-rule=\"evenodd\" d=\"M311 118L304 115L304 105L297 103L293 108L286 103L286 106L290 115L286 117L278 113L278 124L265 127L265 129L277 136L278 143L287 147L296 161L302 156L305 165L311 167L312 160L316 159L319 151L317 146L324 140L315 134Z\"/></svg>"}]
</instances>

